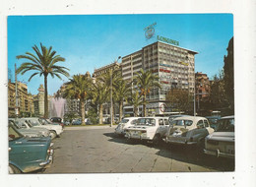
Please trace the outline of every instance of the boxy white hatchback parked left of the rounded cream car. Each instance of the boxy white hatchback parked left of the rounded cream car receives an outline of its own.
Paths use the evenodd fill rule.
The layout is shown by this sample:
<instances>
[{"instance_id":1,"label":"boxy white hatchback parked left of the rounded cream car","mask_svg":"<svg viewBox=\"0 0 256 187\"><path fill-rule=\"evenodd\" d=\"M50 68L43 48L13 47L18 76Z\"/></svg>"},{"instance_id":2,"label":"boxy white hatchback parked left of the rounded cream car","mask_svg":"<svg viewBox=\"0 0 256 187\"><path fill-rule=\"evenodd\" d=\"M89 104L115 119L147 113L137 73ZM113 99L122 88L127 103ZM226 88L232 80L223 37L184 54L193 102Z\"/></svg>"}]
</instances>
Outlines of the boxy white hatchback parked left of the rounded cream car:
<instances>
[{"instance_id":1,"label":"boxy white hatchback parked left of the rounded cream car","mask_svg":"<svg viewBox=\"0 0 256 187\"><path fill-rule=\"evenodd\" d=\"M136 125L125 130L125 137L159 144L165 136L168 125L167 117L142 117L137 120Z\"/></svg>"}]
</instances>

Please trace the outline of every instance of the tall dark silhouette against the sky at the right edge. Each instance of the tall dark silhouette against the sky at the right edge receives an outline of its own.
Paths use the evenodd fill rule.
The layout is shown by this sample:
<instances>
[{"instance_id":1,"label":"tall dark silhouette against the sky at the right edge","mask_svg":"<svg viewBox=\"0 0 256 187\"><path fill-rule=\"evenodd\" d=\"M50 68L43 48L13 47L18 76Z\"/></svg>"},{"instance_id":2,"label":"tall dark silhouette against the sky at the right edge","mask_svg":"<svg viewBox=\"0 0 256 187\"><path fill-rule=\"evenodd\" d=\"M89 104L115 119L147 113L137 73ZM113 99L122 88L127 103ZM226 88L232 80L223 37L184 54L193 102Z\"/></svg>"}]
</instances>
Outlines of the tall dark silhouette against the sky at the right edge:
<instances>
[{"instance_id":1,"label":"tall dark silhouette against the sky at the right edge","mask_svg":"<svg viewBox=\"0 0 256 187\"><path fill-rule=\"evenodd\" d=\"M234 86L233 86L233 37L226 48L227 56L224 56L224 92L228 100L229 108L234 112Z\"/></svg>"}]
</instances>

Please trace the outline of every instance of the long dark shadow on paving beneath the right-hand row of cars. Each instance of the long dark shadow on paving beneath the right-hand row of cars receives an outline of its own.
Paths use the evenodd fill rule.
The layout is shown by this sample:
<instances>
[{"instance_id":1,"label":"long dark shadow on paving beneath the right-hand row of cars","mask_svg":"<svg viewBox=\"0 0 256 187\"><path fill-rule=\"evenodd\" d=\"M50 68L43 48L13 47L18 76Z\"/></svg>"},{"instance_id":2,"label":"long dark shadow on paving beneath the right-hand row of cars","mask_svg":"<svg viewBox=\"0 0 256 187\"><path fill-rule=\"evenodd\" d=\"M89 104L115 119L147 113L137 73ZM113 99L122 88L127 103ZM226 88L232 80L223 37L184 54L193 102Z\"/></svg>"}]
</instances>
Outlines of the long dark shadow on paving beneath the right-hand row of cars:
<instances>
[{"instance_id":1,"label":"long dark shadow on paving beneath the right-hand row of cars","mask_svg":"<svg viewBox=\"0 0 256 187\"><path fill-rule=\"evenodd\" d=\"M220 171L234 171L234 159L228 159L224 157L208 156L203 153L203 150L196 147L189 147L185 145L170 145L163 141L158 146L152 143L127 140L123 136L116 135L115 133L104 133L106 137L110 137L109 142L115 142L119 144L130 144L130 145L145 145L147 147L154 147L158 149L158 156L168 157L178 161L184 161L200 166L204 166L210 169Z\"/></svg>"}]
</instances>

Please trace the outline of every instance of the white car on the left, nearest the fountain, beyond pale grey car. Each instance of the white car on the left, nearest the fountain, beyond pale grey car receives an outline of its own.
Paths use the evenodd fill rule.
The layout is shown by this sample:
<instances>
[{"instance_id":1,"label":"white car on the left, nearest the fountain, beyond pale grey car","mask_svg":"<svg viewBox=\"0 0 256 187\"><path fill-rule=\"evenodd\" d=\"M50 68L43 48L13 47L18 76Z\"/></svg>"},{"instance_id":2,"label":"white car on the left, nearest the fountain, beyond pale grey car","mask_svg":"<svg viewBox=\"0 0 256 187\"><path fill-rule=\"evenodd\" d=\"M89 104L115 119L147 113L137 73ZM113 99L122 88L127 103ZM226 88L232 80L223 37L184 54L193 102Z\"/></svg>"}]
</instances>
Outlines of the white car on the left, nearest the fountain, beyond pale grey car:
<instances>
[{"instance_id":1,"label":"white car on the left, nearest the fountain, beyond pale grey car","mask_svg":"<svg viewBox=\"0 0 256 187\"><path fill-rule=\"evenodd\" d=\"M29 121L32 124L32 126L35 128L43 127L45 129L48 129L50 131L51 139L54 139L56 136L59 137L60 134L63 132L61 125L51 125L43 118L27 117L24 119Z\"/></svg>"}]
</instances>

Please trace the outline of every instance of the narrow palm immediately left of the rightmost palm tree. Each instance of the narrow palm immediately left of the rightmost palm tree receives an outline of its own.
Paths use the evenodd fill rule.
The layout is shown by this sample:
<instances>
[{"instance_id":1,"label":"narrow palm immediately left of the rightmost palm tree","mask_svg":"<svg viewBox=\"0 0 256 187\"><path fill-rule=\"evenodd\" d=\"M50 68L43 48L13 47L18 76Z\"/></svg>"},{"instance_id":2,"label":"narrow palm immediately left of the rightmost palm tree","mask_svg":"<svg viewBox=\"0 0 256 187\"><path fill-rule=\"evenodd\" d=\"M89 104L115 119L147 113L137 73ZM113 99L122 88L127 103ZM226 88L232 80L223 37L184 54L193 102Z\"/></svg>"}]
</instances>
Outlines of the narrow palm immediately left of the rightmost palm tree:
<instances>
[{"instance_id":1,"label":"narrow palm immediately left of the rightmost palm tree","mask_svg":"<svg viewBox=\"0 0 256 187\"><path fill-rule=\"evenodd\" d=\"M123 116L123 102L128 99L131 89L123 79L116 81L114 87L114 98L119 104L119 121Z\"/></svg>"}]
</instances>

